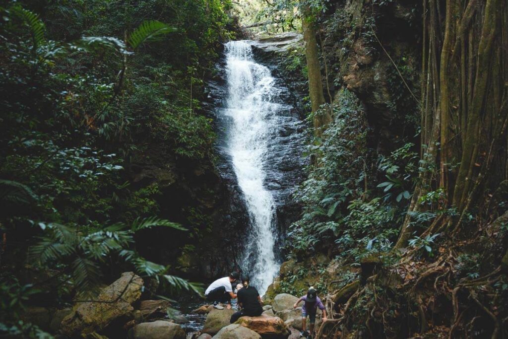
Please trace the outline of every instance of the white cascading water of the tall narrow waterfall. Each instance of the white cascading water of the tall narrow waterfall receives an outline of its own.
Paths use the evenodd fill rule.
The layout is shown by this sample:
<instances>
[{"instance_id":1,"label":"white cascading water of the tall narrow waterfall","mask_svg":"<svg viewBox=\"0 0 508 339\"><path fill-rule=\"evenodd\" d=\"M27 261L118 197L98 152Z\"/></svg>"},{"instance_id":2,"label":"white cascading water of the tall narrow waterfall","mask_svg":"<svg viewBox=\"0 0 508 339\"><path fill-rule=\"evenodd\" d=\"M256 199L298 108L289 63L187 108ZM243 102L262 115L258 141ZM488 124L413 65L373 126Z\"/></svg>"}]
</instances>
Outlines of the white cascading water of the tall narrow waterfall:
<instances>
[{"instance_id":1,"label":"white cascading water of the tall narrow waterfall","mask_svg":"<svg viewBox=\"0 0 508 339\"><path fill-rule=\"evenodd\" d=\"M272 102L277 89L270 70L252 58L244 41L226 45L227 98L224 113L230 117L227 152L249 212L249 230L242 270L251 284L265 293L278 271L274 252L276 215L274 199L265 186L266 155L270 133L276 129L271 117L280 107Z\"/></svg>"}]
</instances>

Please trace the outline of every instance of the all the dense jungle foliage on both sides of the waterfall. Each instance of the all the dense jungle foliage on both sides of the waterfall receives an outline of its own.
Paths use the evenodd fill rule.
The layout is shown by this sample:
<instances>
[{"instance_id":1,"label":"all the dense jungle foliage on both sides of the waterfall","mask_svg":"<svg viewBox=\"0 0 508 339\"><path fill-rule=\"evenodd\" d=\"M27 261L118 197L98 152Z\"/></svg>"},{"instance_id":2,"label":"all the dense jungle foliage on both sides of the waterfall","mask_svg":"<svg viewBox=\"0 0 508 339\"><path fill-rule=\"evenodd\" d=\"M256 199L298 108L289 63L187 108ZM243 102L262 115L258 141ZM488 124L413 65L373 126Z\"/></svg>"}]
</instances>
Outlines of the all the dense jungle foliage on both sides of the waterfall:
<instances>
[{"instance_id":1,"label":"all the dense jungle foliage on both sides of the waterfall","mask_svg":"<svg viewBox=\"0 0 508 339\"><path fill-rule=\"evenodd\" d=\"M506 1L0 10L0 335L50 337L28 307L70 305L126 270L151 296L200 292L138 244L157 228L202 238L208 217L161 213L157 183L136 182L131 165L213 167L204 80L239 21L304 41L280 63L308 92L310 162L265 300L315 286L319 339L508 337Z\"/></svg>"}]
</instances>

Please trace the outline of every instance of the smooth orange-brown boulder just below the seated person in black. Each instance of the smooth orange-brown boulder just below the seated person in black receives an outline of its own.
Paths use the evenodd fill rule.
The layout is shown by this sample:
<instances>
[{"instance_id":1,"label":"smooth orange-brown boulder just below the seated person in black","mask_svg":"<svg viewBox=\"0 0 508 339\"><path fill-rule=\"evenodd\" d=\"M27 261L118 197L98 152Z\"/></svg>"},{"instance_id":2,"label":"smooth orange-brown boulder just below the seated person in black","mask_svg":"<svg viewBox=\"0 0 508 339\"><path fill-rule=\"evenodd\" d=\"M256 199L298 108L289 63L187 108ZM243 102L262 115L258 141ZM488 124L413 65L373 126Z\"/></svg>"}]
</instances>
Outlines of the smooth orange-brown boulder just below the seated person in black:
<instances>
[{"instance_id":1,"label":"smooth orange-brown boulder just below the seated person in black","mask_svg":"<svg viewBox=\"0 0 508 339\"><path fill-rule=\"evenodd\" d=\"M286 339L290 334L289 327L278 317L241 317L235 323L251 329L263 339Z\"/></svg>"}]
</instances>

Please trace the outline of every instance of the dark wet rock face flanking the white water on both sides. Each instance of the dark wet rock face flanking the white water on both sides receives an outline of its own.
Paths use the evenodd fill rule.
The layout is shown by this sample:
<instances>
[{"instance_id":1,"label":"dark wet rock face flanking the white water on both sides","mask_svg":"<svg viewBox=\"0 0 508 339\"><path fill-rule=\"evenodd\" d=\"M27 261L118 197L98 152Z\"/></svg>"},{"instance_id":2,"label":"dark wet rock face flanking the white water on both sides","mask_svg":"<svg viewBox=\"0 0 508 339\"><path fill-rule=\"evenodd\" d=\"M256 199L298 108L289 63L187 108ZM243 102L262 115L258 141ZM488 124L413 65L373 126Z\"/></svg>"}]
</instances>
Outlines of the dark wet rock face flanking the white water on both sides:
<instances>
[{"instance_id":1,"label":"dark wet rock face flanking the white water on both sides","mask_svg":"<svg viewBox=\"0 0 508 339\"><path fill-rule=\"evenodd\" d=\"M302 96L289 88L279 68L282 67L283 55L289 49L301 44L301 35L290 33L259 41L248 41L248 43L252 46L255 61L268 67L275 78L274 87L276 87L275 93L277 95L275 98L272 97L271 101L276 102L279 108L276 114L268 117L273 128L269 132L267 151L264 155L263 169L266 179L263 187L271 193L275 202L278 233L275 237L275 249L278 250L276 255L280 257L280 248L287 229L291 223L298 219L300 214L300 207L294 202L292 195L303 180L303 168L306 161L303 158L306 126L303 122L303 111L298 109L301 107L298 102ZM237 214L245 213L245 220L233 220L242 222L234 227L236 234L241 236L248 226L249 220L244 197L238 187L232 159L227 148L230 117L221 112L226 107L227 96L225 67L224 61L221 61L217 65L216 77L208 83L207 107L214 114L215 130L218 135L216 165L221 178L228 186L230 211ZM228 215L225 218L228 219Z\"/></svg>"}]
</instances>

